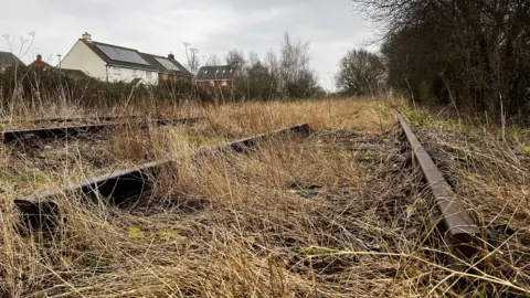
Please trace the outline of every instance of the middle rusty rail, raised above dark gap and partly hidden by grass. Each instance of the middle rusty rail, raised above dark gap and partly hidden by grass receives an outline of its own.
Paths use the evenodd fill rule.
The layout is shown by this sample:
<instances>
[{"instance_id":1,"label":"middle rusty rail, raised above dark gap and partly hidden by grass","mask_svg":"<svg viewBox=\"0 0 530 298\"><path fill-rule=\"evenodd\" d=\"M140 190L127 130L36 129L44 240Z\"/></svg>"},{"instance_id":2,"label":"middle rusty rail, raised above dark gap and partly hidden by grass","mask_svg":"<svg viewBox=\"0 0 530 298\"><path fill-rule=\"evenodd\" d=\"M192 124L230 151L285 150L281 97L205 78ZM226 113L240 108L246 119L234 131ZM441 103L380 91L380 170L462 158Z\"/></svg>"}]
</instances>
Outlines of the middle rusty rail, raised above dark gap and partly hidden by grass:
<instances>
[{"instance_id":1,"label":"middle rusty rail, raised above dark gap and partly hidden by grass","mask_svg":"<svg viewBox=\"0 0 530 298\"><path fill-rule=\"evenodd\" d=\"M236 152L243 152L257 142L271 139L272 137L282 137L289 132L307 137L311 134L311 127L308 124L300 124L288 128L261 134L253 137L242 138L218 146L200 149L195 156L202 156L220 149L232 149ZM65 194L76 194L86 199L105 200L109 204L119 205L131 198L142 198L152 189L152 180L160 171L168 169L169 172L176 171L174 160L165 159L145 163L135 168L110 172L96 178L88 179L86 182L77 183L60 190L45 191L32 194L25 198L15 199L15 205L26 216L45 216L56 209L54 199Z\"/></svg>"}]
</instances>

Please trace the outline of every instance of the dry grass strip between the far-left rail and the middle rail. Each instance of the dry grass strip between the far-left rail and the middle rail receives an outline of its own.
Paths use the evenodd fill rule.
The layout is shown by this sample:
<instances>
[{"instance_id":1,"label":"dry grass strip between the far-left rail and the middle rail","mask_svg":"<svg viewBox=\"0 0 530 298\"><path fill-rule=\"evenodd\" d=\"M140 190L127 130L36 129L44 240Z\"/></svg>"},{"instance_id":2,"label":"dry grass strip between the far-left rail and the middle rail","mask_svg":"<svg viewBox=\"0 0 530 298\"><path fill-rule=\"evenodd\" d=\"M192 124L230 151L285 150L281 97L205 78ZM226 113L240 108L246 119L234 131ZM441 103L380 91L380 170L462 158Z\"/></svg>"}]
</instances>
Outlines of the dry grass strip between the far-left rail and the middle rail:
<instances>
[{"instance_id":1,"label":"dry grass strip between the far-left rail and the middle rail","mask_svg":"<svg viewBox=\"0 0 530 298\"><path fill-rule=\"evenodd\" d=\"M179 119L177 124L186 121ZM168 120L150 127L142 123L113 124L80 134L46 135L49 138L24 135L0 147L0 189L18 195L30 194L149 162L171 152L172 148L168 147L171 141L180 141L190 148L199 146L189 139L188 128L173 126L176 121L167 124ZM193 138L200 136L198 134ZM208 137L201 138L203 142L209 142Z\"/></svg>"}]
</instances>

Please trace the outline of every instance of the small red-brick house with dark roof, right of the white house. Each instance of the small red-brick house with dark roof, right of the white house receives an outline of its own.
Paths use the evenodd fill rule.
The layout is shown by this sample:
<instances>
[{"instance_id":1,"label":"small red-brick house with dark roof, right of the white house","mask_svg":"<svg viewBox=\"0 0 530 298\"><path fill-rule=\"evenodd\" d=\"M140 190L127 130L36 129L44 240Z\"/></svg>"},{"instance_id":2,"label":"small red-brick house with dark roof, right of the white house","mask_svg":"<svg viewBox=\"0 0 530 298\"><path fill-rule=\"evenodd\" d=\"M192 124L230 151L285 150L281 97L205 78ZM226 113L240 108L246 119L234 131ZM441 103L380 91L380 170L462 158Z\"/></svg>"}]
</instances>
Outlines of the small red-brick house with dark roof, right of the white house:
<instances>
[{"instance_id":1,"label":"small red-brick house with dark roof, right of the white house","mask_svg":"<svg viewBox=\"0 0 530 298\"><path fill-rule=\"evenodd\" d=\"M233 65L202 66L195 76L197 86L232 88L236 67Z\"/></svg>"}]
</instances>

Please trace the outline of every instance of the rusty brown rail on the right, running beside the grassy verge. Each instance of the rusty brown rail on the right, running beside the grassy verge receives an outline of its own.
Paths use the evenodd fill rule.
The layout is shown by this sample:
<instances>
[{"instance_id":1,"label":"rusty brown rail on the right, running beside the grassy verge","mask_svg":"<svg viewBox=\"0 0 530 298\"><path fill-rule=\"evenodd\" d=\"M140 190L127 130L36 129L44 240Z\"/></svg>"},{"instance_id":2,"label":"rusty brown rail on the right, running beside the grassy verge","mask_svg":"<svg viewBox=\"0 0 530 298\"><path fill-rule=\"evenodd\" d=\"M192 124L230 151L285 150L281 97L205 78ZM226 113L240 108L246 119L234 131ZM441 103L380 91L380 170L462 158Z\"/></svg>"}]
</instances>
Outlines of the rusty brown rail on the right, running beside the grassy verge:
<instances>
[{"instance_id":1,"label":"rusty brown rail on the right, running beside the grassy verge","mask_svg":"<svg viewBox=\"0 0 530 298\"><path fill-rule=\"evenodd\" d=\"M480 236L480 228L462 205L409 124L402 117L399 117L399 121L434 196L434 204L445 227L445 238L449 241L452 248L464 256L474 256L478 251L476 241Z\"/></svg>"}]
</instances>

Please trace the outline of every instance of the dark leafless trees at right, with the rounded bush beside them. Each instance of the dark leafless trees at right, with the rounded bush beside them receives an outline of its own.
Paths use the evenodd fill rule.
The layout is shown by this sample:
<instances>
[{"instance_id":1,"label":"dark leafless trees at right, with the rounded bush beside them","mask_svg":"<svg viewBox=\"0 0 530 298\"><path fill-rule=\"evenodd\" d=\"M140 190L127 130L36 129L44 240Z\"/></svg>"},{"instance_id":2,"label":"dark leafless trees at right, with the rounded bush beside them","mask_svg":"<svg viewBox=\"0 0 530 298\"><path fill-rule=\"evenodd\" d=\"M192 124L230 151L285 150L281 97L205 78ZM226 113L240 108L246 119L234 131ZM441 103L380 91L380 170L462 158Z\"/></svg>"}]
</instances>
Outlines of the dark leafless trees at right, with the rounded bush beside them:
<instances>
[{"instance_id":1,"label":"dark leafless trees at right, with the rounded bush beside them","mask_svg":"<svg viewBox=\"0 0 530 298\"><path fill-rule=\"evenodd\" d=\"M352 1L382 28L382 46L348 53L338 87L365 93L383 67L388 86L416 103L528 120L530 1Z\"/></svg>"}]
</instances>

